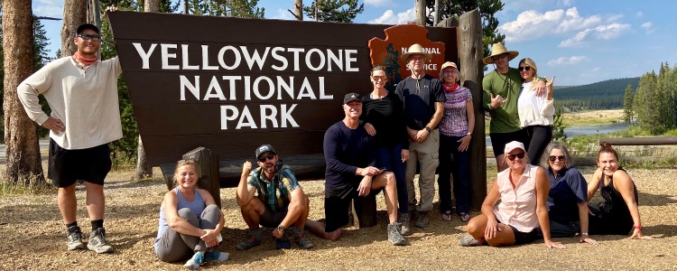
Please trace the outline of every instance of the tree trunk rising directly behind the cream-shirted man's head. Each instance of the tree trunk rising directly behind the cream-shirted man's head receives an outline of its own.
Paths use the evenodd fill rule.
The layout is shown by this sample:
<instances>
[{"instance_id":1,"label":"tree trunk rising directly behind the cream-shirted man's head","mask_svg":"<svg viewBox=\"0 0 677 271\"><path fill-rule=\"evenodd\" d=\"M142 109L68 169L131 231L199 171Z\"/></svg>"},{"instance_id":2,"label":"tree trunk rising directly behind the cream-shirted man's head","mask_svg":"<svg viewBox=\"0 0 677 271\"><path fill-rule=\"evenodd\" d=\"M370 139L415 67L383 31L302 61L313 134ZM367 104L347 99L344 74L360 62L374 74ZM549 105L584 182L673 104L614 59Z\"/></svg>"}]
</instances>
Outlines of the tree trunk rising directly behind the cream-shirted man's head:
<instances>
[{"instance_id":1,"label":"tree trunk rising directly behind the cream-shirted man's head","mask_svg":"<svg viewBox=\"0 0 677 271\"><path fill-rule=\"evenodd\" d=\"M73 38L82 23L87 23L87 0L65 0L61 27L61 56L70 56L78 51Z\"/></svg>"}]
</instances>

